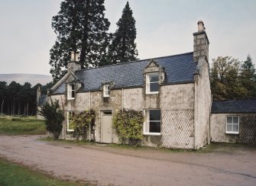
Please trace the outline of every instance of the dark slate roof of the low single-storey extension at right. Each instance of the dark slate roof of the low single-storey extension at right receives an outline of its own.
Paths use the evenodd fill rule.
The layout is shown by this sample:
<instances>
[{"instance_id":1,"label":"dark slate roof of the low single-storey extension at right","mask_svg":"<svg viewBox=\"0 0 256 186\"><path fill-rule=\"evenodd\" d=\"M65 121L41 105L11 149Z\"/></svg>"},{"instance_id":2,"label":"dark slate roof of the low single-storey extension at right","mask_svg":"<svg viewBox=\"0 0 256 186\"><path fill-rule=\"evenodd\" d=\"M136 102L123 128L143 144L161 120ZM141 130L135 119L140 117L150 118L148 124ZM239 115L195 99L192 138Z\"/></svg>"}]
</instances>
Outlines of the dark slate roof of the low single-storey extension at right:
<instances>
[{"instance_id":1,"label":"dark slate roof of the low single-storey extension at right","mask_svg":"<svg viewBox=\"0 0 256 186\"><path fill-rule=\"evenodd\" d=\"M256 98L212 101L212 114L256 113Z\"/></svg>"}]
</instances>

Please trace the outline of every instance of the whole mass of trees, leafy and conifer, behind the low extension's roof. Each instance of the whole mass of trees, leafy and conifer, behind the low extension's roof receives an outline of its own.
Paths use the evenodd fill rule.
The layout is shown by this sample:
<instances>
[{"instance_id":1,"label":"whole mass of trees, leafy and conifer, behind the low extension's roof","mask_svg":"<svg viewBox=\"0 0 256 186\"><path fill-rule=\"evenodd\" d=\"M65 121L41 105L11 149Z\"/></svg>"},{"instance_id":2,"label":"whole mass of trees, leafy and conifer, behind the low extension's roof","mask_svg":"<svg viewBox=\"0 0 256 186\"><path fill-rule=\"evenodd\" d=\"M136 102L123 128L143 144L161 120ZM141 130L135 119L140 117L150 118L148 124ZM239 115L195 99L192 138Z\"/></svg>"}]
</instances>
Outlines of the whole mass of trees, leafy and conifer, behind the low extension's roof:
<instances>
[{"instance_id":1,"label":"whole mass of trees, leafy and conifer, behind the low extension's roof","mask_svg":"<svg viewBox=\"0 0 256 186\"><path fill-rule=\"evenodd\" d=\"M210 82L215 100L245 98L256 95L255 70L251 58L244 63L231 56L212 59Z\"/></svg>"}]
</instances>

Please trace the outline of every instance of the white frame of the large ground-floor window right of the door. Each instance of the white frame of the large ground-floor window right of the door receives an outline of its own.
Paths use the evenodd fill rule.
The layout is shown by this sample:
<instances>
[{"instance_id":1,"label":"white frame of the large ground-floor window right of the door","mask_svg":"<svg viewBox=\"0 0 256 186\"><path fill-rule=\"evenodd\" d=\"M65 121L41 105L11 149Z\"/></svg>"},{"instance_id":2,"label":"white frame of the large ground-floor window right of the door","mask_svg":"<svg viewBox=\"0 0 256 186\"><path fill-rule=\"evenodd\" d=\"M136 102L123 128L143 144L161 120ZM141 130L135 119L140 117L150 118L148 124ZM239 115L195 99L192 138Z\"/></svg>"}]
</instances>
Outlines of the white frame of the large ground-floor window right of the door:
<instances>
[{"instance_id":1,"label":"white frame of the large ground-floor window right of the door","mask_svg":"<svg viewBox=\"0 0 256 186\"><path fill-rule=\"evenodd\" d=\"M150 120L150 111L154 111L154 110L160 111L160 120ZM160 109L147 109L147 110L144 110L144 116L145 116L146 120L144 121L144 124L143 124L143 134L144 135L151 135L151 136L160 136L161 133L151 133L149 131L149 129L150 129L150 122L151 121L160 122L160 129L161 129L161 125L162 125L161 110Z\"/></svg>"}]
</instances>

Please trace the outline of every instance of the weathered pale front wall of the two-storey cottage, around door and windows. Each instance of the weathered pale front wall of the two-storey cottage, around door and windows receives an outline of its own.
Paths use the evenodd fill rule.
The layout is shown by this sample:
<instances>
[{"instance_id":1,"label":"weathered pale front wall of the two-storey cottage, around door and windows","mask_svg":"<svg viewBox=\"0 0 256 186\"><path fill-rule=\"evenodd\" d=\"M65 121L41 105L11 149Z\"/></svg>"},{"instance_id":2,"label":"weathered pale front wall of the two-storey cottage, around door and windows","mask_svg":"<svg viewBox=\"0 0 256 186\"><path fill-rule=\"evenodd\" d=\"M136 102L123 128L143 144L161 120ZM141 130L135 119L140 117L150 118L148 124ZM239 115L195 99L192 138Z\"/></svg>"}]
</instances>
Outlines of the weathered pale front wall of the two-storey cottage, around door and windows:
<instances>
[{"instance_id":1,"label":"weathered pale front wall of the two-storey cottage, around door and windows","mask_svg":"<svg viewBox=\"0 0 256 186\"><path fill-rule=\"evenodd\" d=\"M95 136L96 141L100 142L101 140L101 120L102 114L101 111L111 110L112 115L114 116L118 111L122 109L122 106L127 109L134 109L136 111L143 111L144 109L157 109L160 108L162 113L164 111L191 111L193 113L194 105L194 85L190 84L180 84L180 85L162 85L160 86L159 94L155 95L146 95L144 88L125 88L118 90L111 90L109 98L103 98L102 91L93 91L93 92L83 92L76 93L75 99L66 100L65 95L54 95L52 98L60 99L63 103L65 111L85 111L89 108L96 111L96 130ZM66 113L65 113L66 117ZM177 115L177 118L181 118L180 115ZM184 117L185 118L185 117ZM191 130L193 128L193 122L186 122L186 118L183 119L184 123L189 124L188 128L180 130L178 125L180 123L174 123L174 128L180 131L184 138L191 139L193 135L186 130ZM164 115L162 114L162 130L164 127L169 127L170 123L173 122L163 120ZM193 115L190 116L190 121L193 120ZM191 126L190 126L191 125ZM176 127L175 127L176 126ZM193 130L192 130L193 131ZM173 136L177 135L177 131L173 130ZM63 122L63 131L61 133L60 139L73 139L72 133L66 131L66 120ZM163 144L163 135L160 136L150 136L145 135L141 144L143 146L162 146ZM180 144L183 142L176 141L177 146L166 146L173 148L181 148ZM118 143L118 136L115 130L112 130L112 143ZM186 142L185 142L186 143ZM174 143L173 143L174 144ZM188 144L188 143L186 143ZM186 147L190 146L193 148L193 145L189 144Z\"/></svg>"}]
</instances>

